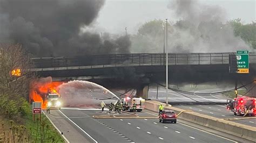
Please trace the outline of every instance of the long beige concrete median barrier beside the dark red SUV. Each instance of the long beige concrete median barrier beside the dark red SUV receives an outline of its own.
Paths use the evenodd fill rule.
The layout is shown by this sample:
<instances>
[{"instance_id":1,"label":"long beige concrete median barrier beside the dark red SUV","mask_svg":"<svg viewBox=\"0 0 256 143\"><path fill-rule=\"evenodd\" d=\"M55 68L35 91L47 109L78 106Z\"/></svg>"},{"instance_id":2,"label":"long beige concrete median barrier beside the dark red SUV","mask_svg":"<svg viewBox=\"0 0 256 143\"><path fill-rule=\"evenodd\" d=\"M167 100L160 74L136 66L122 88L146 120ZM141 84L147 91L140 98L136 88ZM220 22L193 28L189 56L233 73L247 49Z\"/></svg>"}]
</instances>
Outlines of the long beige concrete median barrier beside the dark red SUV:
<instances>
[{"instance_id":1,"label":"long beige concrete median barrier beside the dark red SUV","mask_svg":"<svg viewBox=\"0 0 256 143\"><path fill-rule=\"evenodd\" d=\"M158 112L160 103L161 102L157 102L157 101L146 101L145 108L151 111ZM183 111L182 109L173 108L172 106L166 107L164 103L161 103L161 104L164 105L165 109L173 110L177 114ZM256 140L256 127L243 125L243 124L235 123L233 121L219 119L219 118L215 118L207 115L202 115L196 112L183 112L179 115L178 118L186 121L190 121L192 123L196 123L199 125L203 125L206 127L210 127L221 132L226 132L247 140L252 140L252 141Z\"/></svg>"}]
</instances>

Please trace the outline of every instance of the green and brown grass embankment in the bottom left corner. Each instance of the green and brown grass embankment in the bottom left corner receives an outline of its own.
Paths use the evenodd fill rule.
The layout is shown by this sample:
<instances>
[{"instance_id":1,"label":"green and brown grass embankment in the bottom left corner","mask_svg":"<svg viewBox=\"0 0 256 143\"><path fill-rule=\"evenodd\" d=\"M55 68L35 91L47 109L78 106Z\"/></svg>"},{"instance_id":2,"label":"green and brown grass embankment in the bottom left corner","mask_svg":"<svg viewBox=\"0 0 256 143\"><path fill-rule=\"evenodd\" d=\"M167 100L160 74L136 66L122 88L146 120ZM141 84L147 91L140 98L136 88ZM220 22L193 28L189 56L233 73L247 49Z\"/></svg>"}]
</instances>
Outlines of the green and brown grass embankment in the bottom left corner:
<instances>
[{"instance_id":1,"label":"green and brown grass embankment in the bottom left corner","mask_svg":"<svg viewBox=\"0 0 256 143\"><path fill-rule=\"evenodd\" d=\"M0 142L65 142L43 114L41 120L35 116L35 121L32 112L19 117L19 121L0 117L0 123Z\"/></svg>"}]
</instances>

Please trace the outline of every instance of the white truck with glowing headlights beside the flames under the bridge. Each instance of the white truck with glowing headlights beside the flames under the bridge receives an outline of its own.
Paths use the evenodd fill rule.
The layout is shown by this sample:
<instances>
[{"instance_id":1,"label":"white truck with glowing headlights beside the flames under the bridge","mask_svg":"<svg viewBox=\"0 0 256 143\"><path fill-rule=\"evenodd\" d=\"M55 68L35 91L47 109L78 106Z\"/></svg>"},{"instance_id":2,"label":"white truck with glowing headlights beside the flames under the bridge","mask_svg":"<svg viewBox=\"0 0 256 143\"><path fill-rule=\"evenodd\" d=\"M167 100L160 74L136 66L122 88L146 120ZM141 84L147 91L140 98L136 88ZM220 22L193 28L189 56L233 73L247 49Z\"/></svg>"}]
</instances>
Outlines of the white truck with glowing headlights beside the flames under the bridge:
<instances>
[{"instance_id":1,"label":"white truck with glowing headlights beside the flames under the bridge","mask_svg":"<svg viewBox=\"0 0 256 143\"><path fill-rule=\"evenodd\" d=\"M48 99L48 107L50 109L60 109L62 102L60 101L60 95L58 94L48 94L47 99Z\"/></svg>"}]
</instances>

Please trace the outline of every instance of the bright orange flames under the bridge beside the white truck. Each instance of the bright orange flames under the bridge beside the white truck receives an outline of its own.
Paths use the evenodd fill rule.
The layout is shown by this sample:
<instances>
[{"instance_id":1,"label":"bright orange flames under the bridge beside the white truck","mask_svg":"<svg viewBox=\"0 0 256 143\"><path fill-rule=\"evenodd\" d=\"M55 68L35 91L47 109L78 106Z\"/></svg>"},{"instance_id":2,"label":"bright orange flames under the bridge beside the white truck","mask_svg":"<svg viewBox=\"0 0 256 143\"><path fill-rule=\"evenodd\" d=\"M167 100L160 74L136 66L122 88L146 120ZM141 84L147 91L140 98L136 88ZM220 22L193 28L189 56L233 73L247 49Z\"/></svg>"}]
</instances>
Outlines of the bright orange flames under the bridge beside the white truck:
<instances>
[{"instance_id":1,"label":"bright orange flames under the bridge beside the white truck","mask_svg":"<svg viewBox=\"0 0 256 143\"><path fill-rule=\"evenodd\" d=\"M32 82L30 88L30 101L42 102L42 108L45 109L47 104L47 95L49 93L58 94L58 86L62 83L64 82Z\"/></svg>"}]
</instances>

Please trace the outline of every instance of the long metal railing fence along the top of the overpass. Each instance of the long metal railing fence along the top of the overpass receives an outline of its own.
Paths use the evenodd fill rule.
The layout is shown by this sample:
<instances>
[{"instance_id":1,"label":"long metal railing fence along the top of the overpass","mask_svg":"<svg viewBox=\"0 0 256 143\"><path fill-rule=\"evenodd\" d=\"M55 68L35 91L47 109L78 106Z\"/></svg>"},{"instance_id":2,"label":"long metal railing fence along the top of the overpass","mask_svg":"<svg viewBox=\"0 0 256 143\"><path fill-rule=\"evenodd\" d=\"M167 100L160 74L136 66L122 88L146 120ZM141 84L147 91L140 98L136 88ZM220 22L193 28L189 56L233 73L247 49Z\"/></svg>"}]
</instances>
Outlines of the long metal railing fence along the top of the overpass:
<instances>
[{"instance_id":1,"label":"long metal railing fence along the top of the overpass","mask_svg":"<svg viewBox=\"0 0 256 143\"><path fill-rule=\"evenodd\" d=\"M169 65L223 65L228 64L228 55L235 53L169 54ZM256 63L256 53L250 53L250 63ZM163 53L90 55L73 58L32 58L35 68L97 66L97 65L165 65Z\"/></svg>"}]
</instances>

